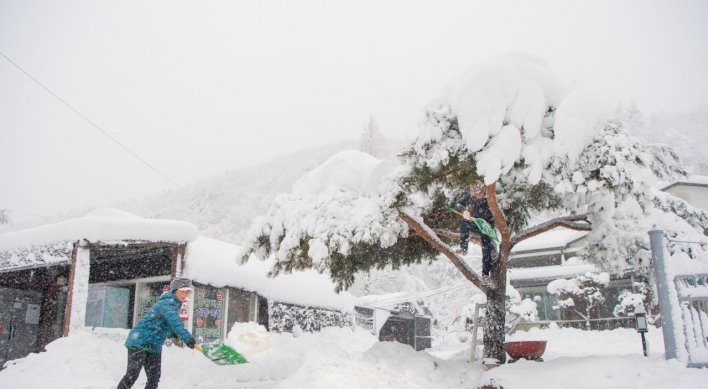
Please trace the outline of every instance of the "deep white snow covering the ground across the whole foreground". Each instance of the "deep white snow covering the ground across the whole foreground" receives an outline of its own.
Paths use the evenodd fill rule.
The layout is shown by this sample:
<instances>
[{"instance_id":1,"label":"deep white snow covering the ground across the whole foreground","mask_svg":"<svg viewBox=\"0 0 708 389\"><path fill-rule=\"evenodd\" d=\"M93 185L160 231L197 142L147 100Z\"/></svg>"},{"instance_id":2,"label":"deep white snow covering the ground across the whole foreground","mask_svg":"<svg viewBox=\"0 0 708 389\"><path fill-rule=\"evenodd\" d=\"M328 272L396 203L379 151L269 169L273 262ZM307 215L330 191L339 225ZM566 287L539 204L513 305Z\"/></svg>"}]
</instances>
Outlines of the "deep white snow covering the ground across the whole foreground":
<instances>
[{"instance_id":1,"label":"deep white snow covering the ground across the whole foreground","mask_svg":"<svg viewBox=\"0 0 708 389\"><path fill-rule=\"evenodd\" d=\"M126 364L127 330L77 332L47 346L47 352L8 364L0 388L115 388ZM532 329L507 340L547 340L544 362L521 360L485 370L469 363L469 344L451 336L428 352L393 342L379 343L359 329L327 328L320 333L267 334L253 325L232 330L250 363L217 366L201 354L165 347L161 389L263 388L478 388L494 382L506 389L705 388L708 370L666 361L661 331L647 334L650 356L630 329L582 331ZM145 376L135 384L141 388Z\"/></svg>"}]
</instances>

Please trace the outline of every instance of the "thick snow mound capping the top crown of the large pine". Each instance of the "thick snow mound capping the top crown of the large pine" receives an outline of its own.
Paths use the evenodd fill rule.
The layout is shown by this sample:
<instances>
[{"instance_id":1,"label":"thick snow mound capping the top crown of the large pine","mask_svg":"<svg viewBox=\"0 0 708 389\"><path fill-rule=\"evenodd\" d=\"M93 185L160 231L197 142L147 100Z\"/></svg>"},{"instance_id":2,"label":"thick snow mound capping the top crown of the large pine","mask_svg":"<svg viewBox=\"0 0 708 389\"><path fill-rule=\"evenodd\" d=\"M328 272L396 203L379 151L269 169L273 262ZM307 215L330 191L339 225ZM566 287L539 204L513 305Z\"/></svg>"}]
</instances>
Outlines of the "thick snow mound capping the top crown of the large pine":
<instances>
[{"instance_id":1,"label":"thick snow mound capping the top crown of the large pine","mask_svg":"<svg viewBox=\"0 0 708 389\"><path fill-rule=\"evenodd\" d=\"M444 88L428 107L418 142L439 141L439 119L457 117L467 149L478 152L477 173L486 184L522 157L528 180L536 184L551 156L577 159L610 112L612 106L592 88L558 75L542 59L507 54L470 68Z\"/></svg>"}]
</instances>

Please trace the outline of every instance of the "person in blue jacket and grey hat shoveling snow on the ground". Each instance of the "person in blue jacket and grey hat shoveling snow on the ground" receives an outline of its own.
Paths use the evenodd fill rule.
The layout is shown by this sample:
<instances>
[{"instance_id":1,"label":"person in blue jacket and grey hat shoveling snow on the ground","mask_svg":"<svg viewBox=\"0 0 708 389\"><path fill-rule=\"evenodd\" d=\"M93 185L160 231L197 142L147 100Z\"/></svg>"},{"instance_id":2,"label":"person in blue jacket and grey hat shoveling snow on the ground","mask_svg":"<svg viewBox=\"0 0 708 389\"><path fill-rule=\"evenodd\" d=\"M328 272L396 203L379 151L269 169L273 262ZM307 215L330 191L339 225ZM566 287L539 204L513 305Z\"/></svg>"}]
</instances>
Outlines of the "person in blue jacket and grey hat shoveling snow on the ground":
<instances>
[{"instance_id":1,"label":"person in blue jacket and grey hat shoveling snow on the ground","mask_svg":"<svg viewBox=\"0 0 708 389\"><path fill-rule=\"evenodd\" d=\"M179 319L179 309L192 292L192 280L176 277L170 290L163 293L138 324L128 333L128 369L118 384L118 389L130 389L145 368L145 389L156 389L162 373L162 345L168 337L179 338L189 348L194 348L194 337Z\"/></svg>"}]
</instances>

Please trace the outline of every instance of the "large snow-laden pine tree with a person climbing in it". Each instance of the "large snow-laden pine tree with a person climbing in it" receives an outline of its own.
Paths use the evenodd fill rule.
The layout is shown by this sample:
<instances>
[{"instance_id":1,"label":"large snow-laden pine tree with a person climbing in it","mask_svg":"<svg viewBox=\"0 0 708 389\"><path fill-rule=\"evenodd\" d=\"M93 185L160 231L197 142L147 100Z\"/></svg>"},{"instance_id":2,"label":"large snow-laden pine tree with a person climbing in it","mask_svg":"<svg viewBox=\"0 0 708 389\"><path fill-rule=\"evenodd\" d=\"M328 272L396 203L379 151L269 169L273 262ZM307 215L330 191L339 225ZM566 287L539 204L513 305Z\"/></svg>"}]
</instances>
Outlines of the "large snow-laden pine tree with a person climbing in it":
<instances>
[{"instance_id":1,"label":"large snow-laden pine tree with a person climbing in it","mask_svg":"<svg viewBox=\"0 0 708 389\"><path fill-rule=\"evenodd\" d=\"M341 290L357 272L445 256L486 295L484 356L503 363L515 244L556 227L589 231L585 259L609 271L634 266L649 277L646 231L654 223L684 237L708 226L708 213L651 186L685 174L675 153L631 138L611 112L591 88L537 57L492 59L430 103L399 166L354 151L335 155L276 198L238 260L273 255L273 276L327 270ZM501 236L490 282L455 253L459 219L444 210L479 180ZM539 214L558 216L529 226Z\"/></svg>"}]
</instances>

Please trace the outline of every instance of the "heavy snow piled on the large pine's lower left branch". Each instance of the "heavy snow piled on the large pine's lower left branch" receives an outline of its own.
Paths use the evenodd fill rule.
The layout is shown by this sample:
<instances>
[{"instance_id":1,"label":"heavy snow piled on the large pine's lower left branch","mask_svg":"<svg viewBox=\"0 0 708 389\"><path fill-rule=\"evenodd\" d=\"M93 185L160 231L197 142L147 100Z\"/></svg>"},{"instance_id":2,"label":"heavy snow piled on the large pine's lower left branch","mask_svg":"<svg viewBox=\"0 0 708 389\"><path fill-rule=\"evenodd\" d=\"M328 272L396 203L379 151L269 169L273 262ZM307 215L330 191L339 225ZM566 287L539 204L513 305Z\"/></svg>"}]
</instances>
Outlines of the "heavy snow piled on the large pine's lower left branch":
<instances>
[{"instance_id":1,"label":"heavy snow piled on the large pine's lower left branch","mask_svg":"<svg viewBox=\"0 0 708 389\"><path fill-rule=\"evenodd\" d=\"M347 255L352 243L393 245L407 227L391 207L396 184L386 179L389 174L395 174L390 161L360 151L330 157L298 180L292 194L278 196L268 217L254 221L237 259L245 261L249 249L262 247L260 239L277 261L307 254L314 268L324 270L330 254ZM266 251L253 253L262 260Z\"/></svg>"}]
</instances>

